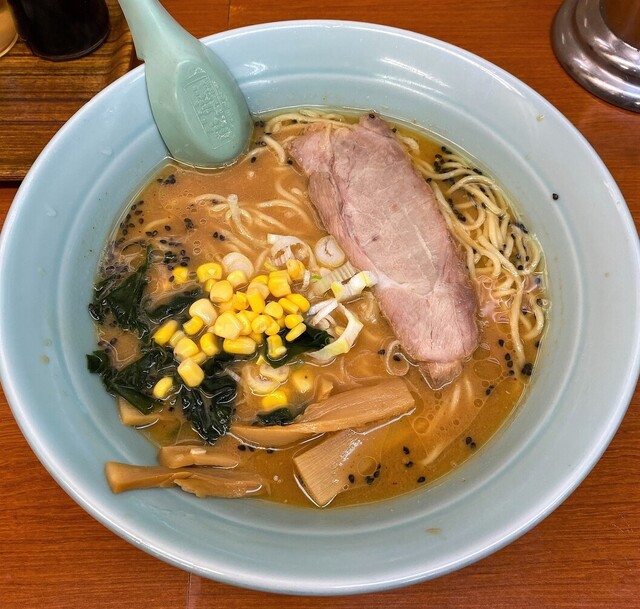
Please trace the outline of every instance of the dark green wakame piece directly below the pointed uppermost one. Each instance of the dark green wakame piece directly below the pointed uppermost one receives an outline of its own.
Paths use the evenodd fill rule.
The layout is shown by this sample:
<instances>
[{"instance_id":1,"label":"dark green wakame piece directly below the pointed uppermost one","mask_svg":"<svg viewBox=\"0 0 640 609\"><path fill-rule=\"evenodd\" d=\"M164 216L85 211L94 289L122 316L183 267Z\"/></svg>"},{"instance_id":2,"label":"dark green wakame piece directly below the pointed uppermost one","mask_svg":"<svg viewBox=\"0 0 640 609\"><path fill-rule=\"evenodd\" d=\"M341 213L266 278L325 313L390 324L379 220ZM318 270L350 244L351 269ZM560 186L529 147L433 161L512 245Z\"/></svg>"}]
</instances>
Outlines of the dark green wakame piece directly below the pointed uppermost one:
<instances>
[{"instance_id":1,"label":"dark green wakame piece directly below the pointed uppermost one","mask_svg":"<svg viewBox=\"0 0 640 609\"><path fill-rule=\"evenodd\" d=\"M111 366L104 351L94 351L87 355L87 368L100 375L109 393L123 397L144 414L151 412L157 404L152 394L153 386L163 376L176 374L171 354L157 347L147 350L121 370Z\"/></svg>"}]
</instances>

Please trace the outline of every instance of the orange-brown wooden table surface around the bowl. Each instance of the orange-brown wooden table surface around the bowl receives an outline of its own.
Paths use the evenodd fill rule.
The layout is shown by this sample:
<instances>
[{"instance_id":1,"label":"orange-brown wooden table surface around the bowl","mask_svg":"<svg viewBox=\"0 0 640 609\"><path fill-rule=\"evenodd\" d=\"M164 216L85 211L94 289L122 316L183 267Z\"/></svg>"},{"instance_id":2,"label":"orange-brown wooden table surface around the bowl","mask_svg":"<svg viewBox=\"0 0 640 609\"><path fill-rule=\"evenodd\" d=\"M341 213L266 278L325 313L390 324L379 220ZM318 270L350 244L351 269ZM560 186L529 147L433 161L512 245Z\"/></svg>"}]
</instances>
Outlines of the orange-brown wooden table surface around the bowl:
<instances>
[{"instance_id":1,"label":"orange-brown wooden table surface around the bowl","mask_svg":"<svg viewBox=\"0 0 640 609\"><path fill-rule=\"evenodd\" d=\"M337 18L410 29L477 53L532 86L568 117L607 164L636 224L640 221L640 114L592 97L556 62L549 31L560 0L163 3L196 36L266 21ZM0 186L2 219L17 186ZM639 438L636 392L613 442L578 490L532 531L475 565L385 593L284 597L189 575L104 528L46 473L0 394L0 606L640 607Z\"/></svg>"}]
</instances>

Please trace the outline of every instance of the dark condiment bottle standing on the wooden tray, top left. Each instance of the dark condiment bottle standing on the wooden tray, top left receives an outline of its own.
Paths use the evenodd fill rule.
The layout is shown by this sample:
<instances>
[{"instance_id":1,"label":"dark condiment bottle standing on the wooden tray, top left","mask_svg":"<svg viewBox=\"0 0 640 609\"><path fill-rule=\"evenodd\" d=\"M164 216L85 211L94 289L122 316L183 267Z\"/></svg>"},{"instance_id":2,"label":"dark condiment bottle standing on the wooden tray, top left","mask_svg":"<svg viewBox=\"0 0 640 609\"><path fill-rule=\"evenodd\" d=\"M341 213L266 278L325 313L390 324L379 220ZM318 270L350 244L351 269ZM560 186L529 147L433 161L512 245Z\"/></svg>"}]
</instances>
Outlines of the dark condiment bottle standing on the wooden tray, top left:
<instances>
[{"instance_id":1,"label":"dark condiment bottle standing on the wooden tray, top left","mask_svg":"<svg viewBox=\"0 0 640 609\"><path fill-rule=\"evenodd\" d=\"M109 35L105 0L9 0L34 55L62 61L87 55Z\"/></svg>"}]
</instances>

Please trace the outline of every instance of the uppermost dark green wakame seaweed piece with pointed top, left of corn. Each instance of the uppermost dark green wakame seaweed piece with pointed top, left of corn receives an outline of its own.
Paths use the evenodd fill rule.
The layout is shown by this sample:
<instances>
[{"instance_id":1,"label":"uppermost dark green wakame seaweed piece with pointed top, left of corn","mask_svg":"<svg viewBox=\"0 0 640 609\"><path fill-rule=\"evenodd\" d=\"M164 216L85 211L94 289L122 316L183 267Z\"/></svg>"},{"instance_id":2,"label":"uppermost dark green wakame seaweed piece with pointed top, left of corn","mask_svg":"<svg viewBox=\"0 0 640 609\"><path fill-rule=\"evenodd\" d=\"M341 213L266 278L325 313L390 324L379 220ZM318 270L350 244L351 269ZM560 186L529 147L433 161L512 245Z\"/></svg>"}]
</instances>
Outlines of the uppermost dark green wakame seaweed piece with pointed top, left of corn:
<instances>
[{"instance_id":1,"label":"uppermost dark green wakame seaweed piece with pointed top, left of corn","mask_svg":"<svg viewBox=\"0 0 640 609\"><path fill-rule=\"evenodd\" d=\"M111 312L121 328L133 330L141 337L148 334L149 328L141 316L141 310L149 258L147 249L143 263L130 275L124 279L119 276L107 277L95 286L95 296L90 306L92 316L104 321Z\"/></svg>"}]
</instances>

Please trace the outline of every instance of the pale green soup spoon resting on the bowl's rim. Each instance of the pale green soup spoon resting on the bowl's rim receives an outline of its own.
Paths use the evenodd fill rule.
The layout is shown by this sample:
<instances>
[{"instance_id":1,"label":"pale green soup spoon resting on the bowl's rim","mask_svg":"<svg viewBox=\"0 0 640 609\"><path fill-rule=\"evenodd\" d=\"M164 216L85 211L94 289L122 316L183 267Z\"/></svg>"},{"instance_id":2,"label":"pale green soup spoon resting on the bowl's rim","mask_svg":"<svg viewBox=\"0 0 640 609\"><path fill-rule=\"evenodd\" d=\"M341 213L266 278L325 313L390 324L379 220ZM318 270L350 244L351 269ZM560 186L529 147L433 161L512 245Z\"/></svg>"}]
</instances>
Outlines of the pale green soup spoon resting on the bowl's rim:
<instances>
[{"instance_id":1,"label":"pale green soup spoon resting on the bowl's rim","mask_svg":"<svg viewBox=\"0 0 640 609\"><path fill-rule=\"evenodd\" d=\"M157 0L119 0L145 62L147 93L171 156L199 167L235 160L253 122L222 60L169 15Z\"/></svg>"}]
</instances>

